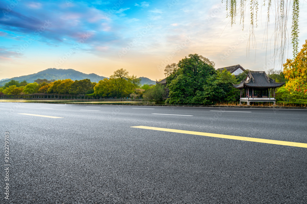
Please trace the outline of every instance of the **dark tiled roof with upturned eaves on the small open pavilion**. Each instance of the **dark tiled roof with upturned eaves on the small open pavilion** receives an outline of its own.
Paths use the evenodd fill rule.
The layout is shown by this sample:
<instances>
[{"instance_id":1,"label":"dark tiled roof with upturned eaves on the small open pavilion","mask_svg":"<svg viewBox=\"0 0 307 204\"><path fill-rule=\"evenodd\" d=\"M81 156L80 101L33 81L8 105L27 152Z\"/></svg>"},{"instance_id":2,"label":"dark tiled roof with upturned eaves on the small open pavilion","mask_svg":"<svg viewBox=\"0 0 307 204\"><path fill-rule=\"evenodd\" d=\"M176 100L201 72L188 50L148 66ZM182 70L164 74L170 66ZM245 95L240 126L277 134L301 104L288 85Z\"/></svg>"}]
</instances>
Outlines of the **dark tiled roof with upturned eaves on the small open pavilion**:
<instances>
[{"instance_id":1,"label":"dark tiled roof with upturned eaves on the small open pavilion","mask_svg":"<svg viewBox=\"0 0 307 204\"><path fill-rule=\"evenodd\" d=\"M278 83L274 79L268 77L266 72L249 71L247 74L248 80L243 80L239 84L233 84L235 88L257 87L257 88L277 88L285 84L285 82Z\"/></svg>"}]
</instances>

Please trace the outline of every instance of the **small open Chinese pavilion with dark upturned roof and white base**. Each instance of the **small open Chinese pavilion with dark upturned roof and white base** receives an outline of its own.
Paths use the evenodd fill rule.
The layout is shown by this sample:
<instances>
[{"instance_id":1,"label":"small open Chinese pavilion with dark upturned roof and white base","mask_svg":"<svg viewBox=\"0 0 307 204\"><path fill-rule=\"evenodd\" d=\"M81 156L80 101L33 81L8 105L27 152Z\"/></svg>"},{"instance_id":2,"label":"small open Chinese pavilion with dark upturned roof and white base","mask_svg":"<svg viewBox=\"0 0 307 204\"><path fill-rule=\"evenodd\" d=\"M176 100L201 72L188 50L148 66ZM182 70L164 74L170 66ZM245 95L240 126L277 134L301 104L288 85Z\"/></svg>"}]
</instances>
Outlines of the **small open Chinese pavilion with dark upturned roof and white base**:
<instances>
[{"instance_id":1,"label":"small open Chinese pavilion with dark upturned roof and white base","mask_svg":"<svg viewBox=\"0 0 307 204\"><path fill-rule=\"evenodd\" d=\"M284 84L285 82L275 82L266 75L266 72L249 71L245 80L233 86L240 89L240 104L242 102L247 102L247 105L250 105L250 102L273 102L275 105L275 88Z\"/></svg>"}]
</instances>

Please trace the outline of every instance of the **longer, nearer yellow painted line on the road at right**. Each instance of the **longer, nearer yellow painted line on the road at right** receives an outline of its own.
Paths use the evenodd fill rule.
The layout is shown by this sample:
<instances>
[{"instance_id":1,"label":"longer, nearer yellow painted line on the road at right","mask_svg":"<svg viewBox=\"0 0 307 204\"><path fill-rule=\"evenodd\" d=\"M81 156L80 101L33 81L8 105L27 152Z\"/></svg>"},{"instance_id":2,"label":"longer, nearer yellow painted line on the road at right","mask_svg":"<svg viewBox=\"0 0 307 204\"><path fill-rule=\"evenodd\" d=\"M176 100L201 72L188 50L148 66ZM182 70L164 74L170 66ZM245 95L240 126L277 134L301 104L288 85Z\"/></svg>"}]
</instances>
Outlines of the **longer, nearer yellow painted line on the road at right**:
<instances>
[{"instance_id":1,"label":"longer, nearer yellow painted line on the road at right","mask_svg":"<svg viewBox=\"0 0 307 204\"><path fill-rule=\"evenodd\" d=\"M219 138L225 138L225 139L237 139L237 140L250 141L250 142L278 144L278 145L307 148L307 144L305 143L287 142L287 141L279 141L279 140L272 140L272 139L259 139L259 138L253 138L253 137L220 135L220 134L214 134L214 133L194 132L194 131L176 130L176 129L168 129L168 128L155 128L155 127L148 127L148 126L134 126L130 128L142 128L142 129L159 130L159 131L165 131L165 132L177 132L177 133L184 133L184 134L190 134L190 135L202 135L202 136L208 136L208 137L219 137Z\"/></svg>"}]
</instances>

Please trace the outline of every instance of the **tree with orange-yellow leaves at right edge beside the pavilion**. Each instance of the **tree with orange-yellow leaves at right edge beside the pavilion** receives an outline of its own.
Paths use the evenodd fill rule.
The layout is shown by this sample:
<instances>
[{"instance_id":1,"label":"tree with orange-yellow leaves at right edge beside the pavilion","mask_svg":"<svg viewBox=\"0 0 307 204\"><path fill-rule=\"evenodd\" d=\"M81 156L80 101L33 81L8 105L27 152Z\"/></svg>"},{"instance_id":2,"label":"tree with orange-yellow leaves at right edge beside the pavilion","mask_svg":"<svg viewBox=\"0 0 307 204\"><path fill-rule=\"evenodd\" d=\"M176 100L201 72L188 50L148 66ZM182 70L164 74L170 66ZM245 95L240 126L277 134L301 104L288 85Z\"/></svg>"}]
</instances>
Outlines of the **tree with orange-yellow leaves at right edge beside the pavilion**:
<instances>
[{"instance_id":1,"label":"tree with orange-yellow leaves at right edge beside the pavilion","mask_svg":"<svg viewBox=\"0 0 307 204\"><path fill-rule=\"evenodd\" d=\"M295 59L287 59L283 66L283 73L286 79L289 79L286 89L307 94L307 40Z\"/></svg>"}]
</instances>

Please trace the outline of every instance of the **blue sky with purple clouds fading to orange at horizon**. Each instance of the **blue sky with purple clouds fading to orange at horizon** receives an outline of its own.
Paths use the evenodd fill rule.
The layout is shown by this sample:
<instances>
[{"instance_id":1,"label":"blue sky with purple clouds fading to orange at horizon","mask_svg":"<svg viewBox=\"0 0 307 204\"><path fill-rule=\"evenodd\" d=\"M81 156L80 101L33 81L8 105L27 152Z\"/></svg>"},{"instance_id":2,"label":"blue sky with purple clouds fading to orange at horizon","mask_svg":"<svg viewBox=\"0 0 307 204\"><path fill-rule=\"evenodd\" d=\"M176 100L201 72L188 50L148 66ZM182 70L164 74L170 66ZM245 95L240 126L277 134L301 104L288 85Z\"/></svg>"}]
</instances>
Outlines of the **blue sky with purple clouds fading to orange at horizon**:
<instances>
[{"instance_id":1,"label":"blue sky with purple clouds fading to orange at horizon","mask_svg":"<svg viewBox=\"0 0 307 204\"><path fill-rule=\"evenodd\" d=\"M216 69L237 64L254 71L281 69L272 58L274 11L266 36L267 11L259 9L255 40L248 44L248 16L244 30L240 16L231 27L225 2L0 0L0 79L48 68L109 77L123 68L158 80L165 78L167 64L188 54L207 57ZM306 6L300 3L299 50L307 39ZM290 15L290 42L291 23ZM286 58L293 58L291 44L286 47Z\"/></svg>"}]
</instances>

